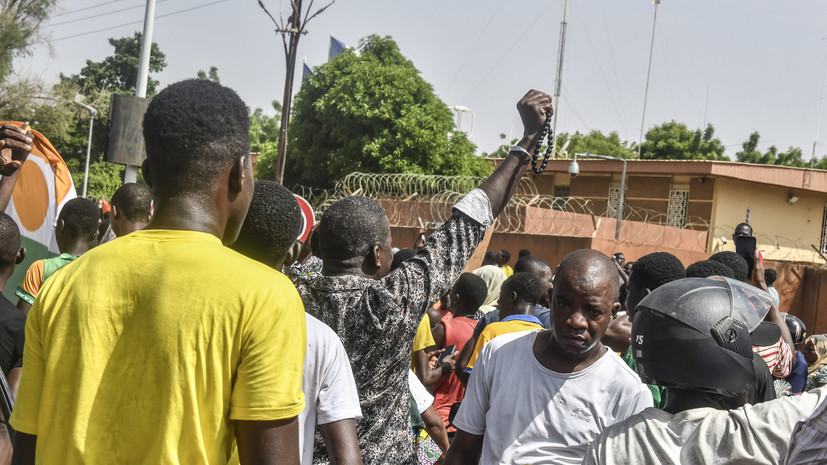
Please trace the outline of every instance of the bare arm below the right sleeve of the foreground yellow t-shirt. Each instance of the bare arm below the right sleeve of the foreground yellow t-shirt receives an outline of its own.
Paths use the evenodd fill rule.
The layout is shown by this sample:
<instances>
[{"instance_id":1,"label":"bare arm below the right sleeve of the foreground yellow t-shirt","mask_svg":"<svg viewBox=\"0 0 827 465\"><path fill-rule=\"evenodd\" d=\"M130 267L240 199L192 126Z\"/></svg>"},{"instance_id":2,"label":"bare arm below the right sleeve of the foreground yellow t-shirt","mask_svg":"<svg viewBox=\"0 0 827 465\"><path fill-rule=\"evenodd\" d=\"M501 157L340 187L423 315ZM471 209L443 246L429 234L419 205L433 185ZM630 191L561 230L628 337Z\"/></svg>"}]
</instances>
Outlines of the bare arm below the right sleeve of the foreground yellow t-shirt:
<instances>
[{"instance_id":1,"label":"bare arm below the right sleeve of the foreground yellow t-shirt","mask_svg":"<svg viewBox=\"0 0 827 465\"><path fill-rule=\"evenodd\" d=\"M241 465L299 465L299 422L296 417L273 421L235 421Z\"/></svg>"}]
</instances>

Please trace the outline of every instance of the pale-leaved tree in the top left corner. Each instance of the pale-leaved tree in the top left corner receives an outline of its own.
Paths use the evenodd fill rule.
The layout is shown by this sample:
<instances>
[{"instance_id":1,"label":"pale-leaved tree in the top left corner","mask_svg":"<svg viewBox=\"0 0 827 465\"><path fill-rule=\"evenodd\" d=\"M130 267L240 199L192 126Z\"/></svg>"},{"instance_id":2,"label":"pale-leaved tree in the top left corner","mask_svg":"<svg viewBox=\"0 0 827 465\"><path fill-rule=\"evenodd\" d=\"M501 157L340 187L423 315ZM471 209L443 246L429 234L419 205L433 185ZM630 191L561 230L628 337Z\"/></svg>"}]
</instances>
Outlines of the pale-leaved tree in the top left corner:
<instances>
[{"instance_id":1,"label":"pale-leaved tree in the top left corner","mask_svg":"<svg viewBox=\"0 0 827 465\"><path fill-rule=\"evenodd\" d=\"M0 83L11 73L16 57L31 54L40 25L57 0L0 0Z\"/></svg>"}]
</instances>

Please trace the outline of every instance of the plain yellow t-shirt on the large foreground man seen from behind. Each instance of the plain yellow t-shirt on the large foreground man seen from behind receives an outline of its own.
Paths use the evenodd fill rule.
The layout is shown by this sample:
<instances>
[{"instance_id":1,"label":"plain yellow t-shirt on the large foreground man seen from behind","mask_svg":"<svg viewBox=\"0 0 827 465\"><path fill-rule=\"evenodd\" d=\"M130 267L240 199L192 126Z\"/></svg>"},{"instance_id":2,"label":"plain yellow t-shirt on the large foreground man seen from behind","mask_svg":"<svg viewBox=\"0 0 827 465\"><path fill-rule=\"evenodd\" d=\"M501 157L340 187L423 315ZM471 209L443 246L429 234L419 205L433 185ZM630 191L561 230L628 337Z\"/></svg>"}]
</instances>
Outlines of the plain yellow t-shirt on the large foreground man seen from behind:
<instances>
[{"instance_id":1,"label":"plain yellow t-shirt on the large foreground man seen from behind","mask_svg":"<svg viewBox=\"0 0 827 465\"><path fill-rule=\"evenodd\" d=\"M37 463L228 463L232 420L304 408L290 281L206 233L144 230L44 283L11 423Z\"/></svg>"}]
</instances>

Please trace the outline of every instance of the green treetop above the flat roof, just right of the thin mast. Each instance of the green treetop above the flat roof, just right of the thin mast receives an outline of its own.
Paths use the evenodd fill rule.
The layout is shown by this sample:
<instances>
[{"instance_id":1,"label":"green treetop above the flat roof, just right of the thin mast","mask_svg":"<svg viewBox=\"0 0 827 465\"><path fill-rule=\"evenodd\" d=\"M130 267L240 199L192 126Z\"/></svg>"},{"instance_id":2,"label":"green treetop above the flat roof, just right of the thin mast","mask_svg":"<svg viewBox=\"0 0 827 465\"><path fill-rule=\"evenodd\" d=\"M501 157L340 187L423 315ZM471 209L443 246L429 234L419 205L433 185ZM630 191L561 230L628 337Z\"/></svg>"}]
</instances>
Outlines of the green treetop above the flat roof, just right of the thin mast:
<instances>
[{"instance_id":1,"label":"green treetop above the flat roof, just right of the thin mast","mask_svg":"<svg viewBox=\"0 0 827 465\"><path fill-rule=\"evenodd\" d=\"M709 124L701 131L689 130L685 124L670 121L646 132L640 158L646 160L729 160L724 144L715 137Z\"/></svg>"}]
</instances>

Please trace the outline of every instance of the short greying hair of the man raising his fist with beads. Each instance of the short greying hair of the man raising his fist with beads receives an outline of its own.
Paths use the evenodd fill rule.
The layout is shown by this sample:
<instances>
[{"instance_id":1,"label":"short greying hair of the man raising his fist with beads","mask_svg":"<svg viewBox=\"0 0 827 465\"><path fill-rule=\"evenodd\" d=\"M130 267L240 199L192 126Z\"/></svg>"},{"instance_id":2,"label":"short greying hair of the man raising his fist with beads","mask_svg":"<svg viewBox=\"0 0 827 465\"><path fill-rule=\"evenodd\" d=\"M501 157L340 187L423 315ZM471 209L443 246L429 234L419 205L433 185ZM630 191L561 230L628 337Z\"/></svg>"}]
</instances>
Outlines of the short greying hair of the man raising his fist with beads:
<instances>
[{"instance_id":1,"label":"short greying hair of the man raising his fist with beads","mask_svg":"<svg viewBox=\"0 0 827 465\"><path fill-rule=\"evenodd\" d=\"M384 245L390 234L385 210L375 201L354 195L337 200L319 222L319 244L324 260L361 259L374 245Z\"/></svg>"}]
</instances>

